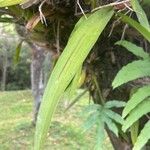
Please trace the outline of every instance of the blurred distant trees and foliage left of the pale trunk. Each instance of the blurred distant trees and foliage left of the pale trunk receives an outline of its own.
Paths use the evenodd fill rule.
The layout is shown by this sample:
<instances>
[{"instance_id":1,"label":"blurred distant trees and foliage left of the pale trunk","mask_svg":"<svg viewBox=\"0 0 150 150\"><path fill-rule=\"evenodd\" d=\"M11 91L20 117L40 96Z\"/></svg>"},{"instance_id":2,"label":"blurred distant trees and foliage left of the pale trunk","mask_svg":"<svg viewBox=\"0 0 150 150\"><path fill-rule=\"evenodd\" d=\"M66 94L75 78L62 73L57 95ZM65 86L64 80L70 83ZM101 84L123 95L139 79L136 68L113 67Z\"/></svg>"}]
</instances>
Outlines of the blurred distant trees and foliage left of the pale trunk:
<instances>
[{"instance_id":1,"label":"blurred distant trees and foliage left of the pale trunk","mask_svg":"<svg viewBox=\"0 0 150 150\"><path fill-rule=\"evenodd\" d=\"M2 81L3 67L5 67L7 72L5 88L6 90L29 89L31 84L31 60L30 53L28 51L29 48L25 44L22 45L22 52L19 54L19 51L16 50L16 45L18 44L19 37L15 32L14 25L9 23L1 23L0 27L2 32L2 36L0 38L0 82ZM18 58L17 55L19 55ZM20 59L17 65L14 65L14 59Z\"/></svg>"}]
</instances>

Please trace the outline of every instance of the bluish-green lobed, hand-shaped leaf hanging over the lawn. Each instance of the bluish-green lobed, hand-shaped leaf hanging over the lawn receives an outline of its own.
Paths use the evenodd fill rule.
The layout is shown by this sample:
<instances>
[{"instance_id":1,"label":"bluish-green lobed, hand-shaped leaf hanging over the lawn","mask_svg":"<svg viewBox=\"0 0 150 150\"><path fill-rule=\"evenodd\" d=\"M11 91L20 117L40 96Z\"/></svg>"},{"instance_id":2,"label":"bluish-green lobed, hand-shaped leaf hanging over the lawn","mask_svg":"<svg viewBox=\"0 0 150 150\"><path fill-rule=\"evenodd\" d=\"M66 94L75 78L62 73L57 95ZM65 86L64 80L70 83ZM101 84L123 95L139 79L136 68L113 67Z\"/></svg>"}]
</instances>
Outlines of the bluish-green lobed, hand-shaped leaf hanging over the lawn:
<instances>
[{"instance_id":1,"label":"bluish-green lobed, hand-shaped leaf hanging over the lawn","mask_svg":"<svg viewBox=\"0 0 150 150\"><path fill-rule=\"evenodd\" d=\"M116 123L123 124L121 116L109 108L112 107L123 107L124 102L111 101L107 102L104 106L93 104L89 105L84 113L88 114L88 118L83 125L84 132L90 130L93 126L96 126L97 136L95 149L103 149L103 142L105 139L105 125L111 130L116 136L118 136L118 127Z\"/></svg>"}]
</instances>

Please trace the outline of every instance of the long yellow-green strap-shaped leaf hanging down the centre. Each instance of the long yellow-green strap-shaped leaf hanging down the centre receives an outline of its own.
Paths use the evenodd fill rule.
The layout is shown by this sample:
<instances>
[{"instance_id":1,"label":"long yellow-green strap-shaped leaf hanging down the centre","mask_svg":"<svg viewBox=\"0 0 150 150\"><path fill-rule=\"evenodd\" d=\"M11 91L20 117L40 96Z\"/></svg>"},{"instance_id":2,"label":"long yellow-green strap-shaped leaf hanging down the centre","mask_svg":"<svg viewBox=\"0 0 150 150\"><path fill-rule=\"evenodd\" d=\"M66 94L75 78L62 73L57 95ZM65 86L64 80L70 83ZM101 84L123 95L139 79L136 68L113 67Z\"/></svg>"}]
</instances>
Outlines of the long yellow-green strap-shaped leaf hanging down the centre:
<instances>
[{"instance_id":1,"label":"long yellow-green strap-shaped leaf hanging down the centre","mask_svg":"<svg viewBox=\"0 0 150 150\"><path fill-rule=\"evenodd\" d=\"M59 98L89 54L113 15L111 8L101 9L77 23L46 87L37 120L34 150L40 150Z\"/></svg>"}]
</instances>

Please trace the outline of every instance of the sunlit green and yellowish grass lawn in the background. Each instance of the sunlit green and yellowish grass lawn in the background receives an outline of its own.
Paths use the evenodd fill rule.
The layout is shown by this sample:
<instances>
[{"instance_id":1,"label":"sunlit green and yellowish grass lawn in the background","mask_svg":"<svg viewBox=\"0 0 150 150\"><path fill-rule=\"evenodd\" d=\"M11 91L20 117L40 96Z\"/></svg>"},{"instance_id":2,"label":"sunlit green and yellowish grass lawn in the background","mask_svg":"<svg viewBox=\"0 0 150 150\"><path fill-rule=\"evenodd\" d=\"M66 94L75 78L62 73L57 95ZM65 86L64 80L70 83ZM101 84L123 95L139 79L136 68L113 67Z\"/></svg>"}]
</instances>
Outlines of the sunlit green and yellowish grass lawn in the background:
<instances>
[{"instance_id":1,"label":"sunlit green and yellowish grass lawn in the background","mask_svg":"<svg viewBox=\"0 0 150 150\"><path fill-rule=\"evenodd\" d=\"M95 130L83 134L82 109L87 95L64 113L61 100L47 136L44 150L93 150ZM32 150L35 128L32 126L33 98L30 91L0 92L0 150ZM106 139L106 150L112 150Z\"/></svg>"}]
</instances>

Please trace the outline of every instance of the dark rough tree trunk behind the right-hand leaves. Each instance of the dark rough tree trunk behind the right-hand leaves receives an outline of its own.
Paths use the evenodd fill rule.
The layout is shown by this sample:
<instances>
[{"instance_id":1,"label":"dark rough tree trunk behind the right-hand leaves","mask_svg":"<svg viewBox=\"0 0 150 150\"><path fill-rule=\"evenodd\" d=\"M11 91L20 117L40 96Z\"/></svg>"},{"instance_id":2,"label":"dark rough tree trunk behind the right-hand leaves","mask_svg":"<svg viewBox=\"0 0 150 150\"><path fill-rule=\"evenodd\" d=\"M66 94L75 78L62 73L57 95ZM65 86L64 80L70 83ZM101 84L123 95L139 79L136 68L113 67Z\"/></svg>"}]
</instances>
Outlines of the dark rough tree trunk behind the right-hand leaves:
<instances>
[{"instance_id":1,"label":"dark rough tree trunk behind the right-hand leaves","mask_svg":"<svg viewBox=\"0 0 150 150\"><path fill-rule=\"evenodd\" d=\"M119 89L112 89L112 81L117 72L131 60L134 60L134 56L129 54L125 50L117 50L116 47L110 45L103 45L101 43L113 43L106 39L105 41L98 42L94 47L94 50L87 58L85 67L87 68L88 79L86 83L93 97L94 103L103 104L101 99L108 100L128 100L130 85L121 86ZM110 46L110 47L109 47ZM120 53L121 51L121 53ZM102 98L100 98L99 89L97 89L93 76L95 76L98 87L101 92ZM91 78L91 79L90 79ZM114 109L115 112L120 113L122 110ZM116 137L108 128L106 128L107 134L115 150L131 150L132 144L130 136L126 135L127 139L123 136Z\"/></svg>"}]
</instances>

